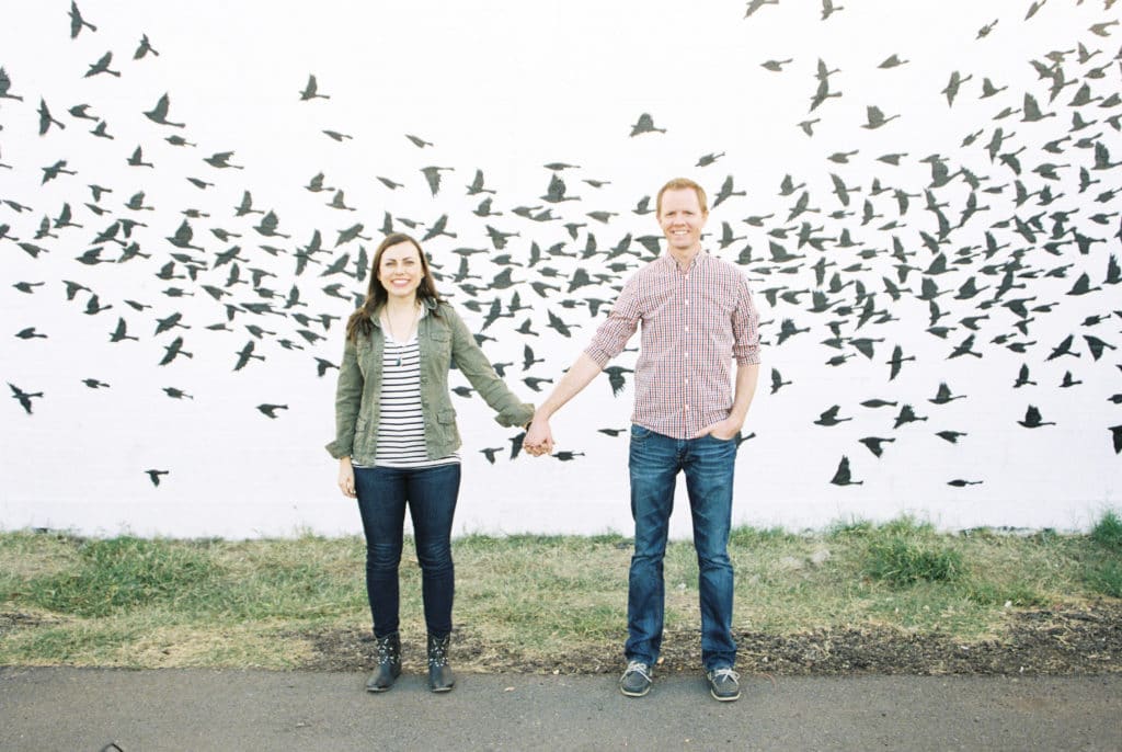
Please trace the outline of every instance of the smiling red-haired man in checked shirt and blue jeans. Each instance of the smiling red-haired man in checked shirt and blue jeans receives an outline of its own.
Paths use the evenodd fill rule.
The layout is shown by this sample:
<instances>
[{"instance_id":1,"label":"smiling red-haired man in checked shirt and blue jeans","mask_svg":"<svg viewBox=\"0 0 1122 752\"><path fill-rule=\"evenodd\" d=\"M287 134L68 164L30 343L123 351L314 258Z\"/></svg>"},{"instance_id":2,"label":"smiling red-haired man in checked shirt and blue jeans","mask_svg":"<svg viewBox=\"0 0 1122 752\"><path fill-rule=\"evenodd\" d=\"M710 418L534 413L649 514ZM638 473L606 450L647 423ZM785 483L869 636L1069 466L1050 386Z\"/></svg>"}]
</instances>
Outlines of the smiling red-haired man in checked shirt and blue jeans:
<instances>
[{"instance_id":1,"label":"smiling red-haired man in checked shirt and blue jeans","mask_svg":"<svg viewBox=\"0 0 1122 752\"><path fill-rule=\"evenodd\" d=\"M635 552L627 669L619 689L628 697L651 689L662 643L662 561L681 470L699 566L701 662L712 696L735 700L741 689L727 548L737 437L760 370L760 318L744 274L701 248L709 214L701 186L672 180L659 191L656 207L666 254L627 282L591 343L535 412L523 443L534 455L552 451L550 416L624 349L642 323L628 458Z\"/></svg>"}]
</instances>

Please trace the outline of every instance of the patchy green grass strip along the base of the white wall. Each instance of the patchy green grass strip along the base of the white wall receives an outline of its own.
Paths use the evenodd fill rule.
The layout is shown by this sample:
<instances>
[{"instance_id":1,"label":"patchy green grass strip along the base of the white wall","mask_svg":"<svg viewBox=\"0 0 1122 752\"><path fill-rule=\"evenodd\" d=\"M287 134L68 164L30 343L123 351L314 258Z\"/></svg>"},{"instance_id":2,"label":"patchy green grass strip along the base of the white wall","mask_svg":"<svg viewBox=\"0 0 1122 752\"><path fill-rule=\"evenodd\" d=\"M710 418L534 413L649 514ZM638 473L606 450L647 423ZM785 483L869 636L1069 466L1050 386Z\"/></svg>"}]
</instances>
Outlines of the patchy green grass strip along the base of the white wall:
<instances>
[{"instance_id":1,"label":"patchy green grass strip along the base of the white wall","mask_svg":"<svg viewBox=\"0 0 1122 752\"><path fill-rule=\"evenodd\" d=\"M466 535L453 543L460 662L534 670L618 658L632 541L616 534ZM794 534L741 528L734 629L1000 641L1018 613L1122 597L1122 522L1088 534L940 533L901 517ZM360 666L369 659L365 544L83 539L0 533L0 664L132 668ZM666 550L666 631L699 627L697 559ZM423 640L421 577L406 542L402 630ZM1118 603L1114 603L1116 606ZM579 666L577 667L580 668Z\"/></svg>"}]
</instances>

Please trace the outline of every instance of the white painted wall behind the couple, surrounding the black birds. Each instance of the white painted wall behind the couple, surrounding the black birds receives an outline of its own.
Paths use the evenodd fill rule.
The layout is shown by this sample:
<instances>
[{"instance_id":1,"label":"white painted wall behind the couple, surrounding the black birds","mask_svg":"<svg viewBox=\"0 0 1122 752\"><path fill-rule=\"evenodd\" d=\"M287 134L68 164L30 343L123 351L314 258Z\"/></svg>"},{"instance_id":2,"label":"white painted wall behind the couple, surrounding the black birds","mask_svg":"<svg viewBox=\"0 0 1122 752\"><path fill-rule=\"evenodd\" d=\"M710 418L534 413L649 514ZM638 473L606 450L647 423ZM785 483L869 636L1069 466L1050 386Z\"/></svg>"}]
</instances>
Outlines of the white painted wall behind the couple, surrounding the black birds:
<instances>
[{"instance_id":1,"label":"white painted wall behind the couple, surrounding the black birds","mask_svg":"<svg viewBox=\"0 0 1122 752\"><path fill-rule=\"evenodd\" d=\"M358 515L338 496L334 462L322 449L333 433L334 372L321 378L315 366L315 358L339 361L341 321L329 329L302 325L293 310L284 309L289 290L300 290L306 304L300 311L344 320L352 301L333 297L323 287L342 283L342 295L349 297L365 290L365 282L344 275L321 278L321 272L343 254L353 260L360 247L373 251L387 213L395 229L408 229L405 220L416 222L419 236L447 214L448 229L457 237L424 244L444 275L457 270L460 257L453 249L489 249L470 257L470 273L480 277L470 282L482 292L465 290L447 276L442 283L442 292L469 322L479 327L484 319L467 308L472 299L486 311L496 296L506 305L517 292L533 306L487 329L495 341L485 343L493 360L517 364L507 369L512 386L533 398L521 379L557 378L598 318L587 308L561 306L567 294L539 295L530 283L567 288L578 268L596 274L613 260L640 264L647 254L637 242L631 246L637 255L609 260L608 251L627 235L659 233L652 214L632 210L675 175L701 182L710 201L727 177L745 192L714 207L709 220L715 254L737 259L751 245L744 268L766 321L761 391L746 425L755 435L742 446L738 459L737 522L821 528L838 519L911 512L945 528L1068 529L1086 526L1102 510L1118 506L1122 466L1111 427L1122 424L1122 407L1109 400L1122 393L1122 355L1114 349L1122 343L1122 314L1115 313L1122 306L1113 285L1116 274L1109 267L1120 250L1122 201L1113 192L1122 181L1116 167L1096 168L1096 159L1100 167L1104 159L1122 161L1122 31L1111 2L1055 0L1026 18L1027 2L1001 3L995 10L992 3L960 0L852 0L822 20L818 3L790 1L745 18L744 3L724 1L88 0L81 12L96 30L83 28L75 38L70 3L3 4L0 66L11 82L8 93L22 100L0 99L0 201L8 202L0 203L0 226L8 228L8 237L0 239L0 372L4 382L43 396L33 400L31 414L15 398L0 409L0 526L223 537L357 532ZM158 56L134 59L142 35ZM109 67L120 76L84 77L105 52L112 53ZM892 54L908 62L879 67ZM788 58L781 72L761 65ZM838 68L828 82L830 92L840 95L811 112L819 59ZM1067 85L1054 101L1052 80L1042 79L1033 61L1046 66L1058 61L1052 80L1061 70ZM948 104L942 90L956 71L966 80ZM330 99L300 100L309 74L316 75L321 93ZM987 77L1004 89L982 98ZM1076 98L1084 85L1094 101L1080 104ZM184 128L157 125L142 114L165 93L168 119ZM1023 121L1027 94L1055 114ZM65 129L52 126L39 135L40 100ZM113 139L91 135L96 121L68 112L80 103L104 120ZM899 118L863 128L868 106ZM1012 113L1000 117L1005 108ZM631 137L644 112L665 132ZM1093 122L1075 130L1076 116ZM808 119L816 120L812 137L798 126ZM350 138L335 141L325 129ZM1020 174L1000 158L991 161L987 145L997 129L1004 140L995 153L1015 155ZM406 134L433 145L417 148ZM192 146L164 140L172 135ZM1055 147L1058 154L1045 149L1055 139L1064 139ZM154 167L127 164L138 146ZM203 162L220 152L232 152L230 162L243 168L218 169ZM856 154L847 163L830 158L852 152ZM721 156L698 166L707 154ZM890 154L903 156L896 165L879 159ZM923 162L930 155L945 158L956 175L948 184L931 187L931 167ZM43 168L59 159L77 174L44 183ZM568 194L579 200L550 204L540 198L553 174L543 165L555 162L579 165L559 173ZM1048 163L1057 165L1055 177L1038 172ZM420 172L426 166L449 168L436 195ZM988 207L960 227L971 186L959 168L977 177L975 198ZM1097 182L1082 185L1080 168ZM467 195L466 185L477 169L495 191L493 211L502 215L473 213L482 196ZM327 185L344 191L346 204L355 211L329 208L333 192L305 190L318 173ZM848 207L833 193L831 174L853 187ZM806 186L781 195L784 175ZM377 176L402 185L389 190ZM188 177L209 185L199 189ZM586 178L608 183L594 187ZM1030 194L1020 205L1015 181ZM112 192L94 201L90 184ZM876 184L884 192L874 194ZM1039 194L1046 187L1050 203ZM921 232L939 233L936 214L925 209L928 189L949 222L939 247L949 270L938 275L925 274L936 254ZM896 190L912 194L904 213L893 196ZM141 191L144 204L153 209L126 208ZM236 215L245 191L255 209L276 213L278 231L289 238L258 233L254 227L260 214ZM818 211L789 220L803 191ZM863 218L866 201L879 214L870 221ZM64 204L81 227L54 227ZM533 221L514 212L519 207L540 208L535 212L549 208L557 219ZM186 218L183 212L192 209L200 215ZM588 215L596 211L613 214L600 222ZM749 217L767 219L753 226L744 221ZM1028 226L1032 242L1018 232L1014 217L1037 222ZM1052 241L1057 217L1063 219L1061 237L1050 253L1045 244ZM44 219L49 235L36 239ZM149 257L96 266L75 260L98 245L104 248L102 257L117 259L121 246L96 237L120 219L142 223L132 229L131 240ZM186 253L199 259L200 270L195 279L180 278L186 269L175 263L176 278L160 279L156 274L174 260L169 254L181 253L166 238L184 219L193 229L193 245L201 248ZM337 246L338 233L357 222L370 239ZM580 224L576 239L564 227L568 222ZM726 222L744 238L721 249L718 239ZM798 247L803 222L813 237L826 239L821 250ZM894 226L885 228L890 222ZM518 235L497 251L488 224ZM239 237L221 240L213 229ZM318 230L323 251L316 260L322 265L296 274L294 253ZM778 237L784 230L787 237ZM843 231L854 246L840 242ZM1076 248L1073 232L1094 239L1086 254ZM1001 247L992 258L978 251L986 247L986 233ZM573 253L586 250L594 239L596 253L587 258L550 257L528 266L532 244L545 249L563 242L564 251ZM889 255L893 239L917 267L903 282L899 259ZM773 263L769 240L802 258ZM33 256L19 242L44 250ZM280 295L273 300L276 314L242 311L227 319L226 302L242 306L268 300L250 284L226 286L232 264L215 264L233 245L241 246L241 278L250 279L250 269L259 269L267 274L259 287ZM279 251L272 255L263 245ZM881 253L862 258L863 250L874 249ZM963 249L966 255L959 255ZM1008 264L1014 251L1021 265L1013 268L1013 282L1024 286L986 303L1012 268ZM521 265L513 274L519 284L486 290L504 268L493 262L499 253ZM824 290L835 273L846 285L828 293L834 305L825 313L809 310L809 291L819 288L812 269L819 259L830 265ZM543 267L559 276L543 276ZM1095 290L1069 294L1082 274ZM613 286L625 277L615 275L574 296L611 300ZM885 277L903 290L900 300L885 292ZM925 277L945 292L936 300L946 314L938 323L949 328L945 337L928 331L930 306L919 300ZM956 300L968 277L987 288ZM89 290L67 300L64 281ZM12 286L19 282L36 286L21 292ZM874 318L857 327L857 311L865 303L858 283L873 294L875 309L894 320L876 323ZM219 303L202 290L204 284L230 295ZM168 296L168 287L186 295ZM779 295L774 303L767 290ZM782 299L783 292L797 290L808 292L794 302ZM112 308L85 313L94 293L101 305ZM1003 305L1013 299L1031 299L1029 308L1046 306L1028 314L1026 332L1015 328L1021 319ZM138 311L127 301L150 308ZM855 311L837 314L839 306ZM190 328L156 334L157 321L174 312ZM564 338L551 330L550 312L579 325L577 333ZM962 321L973 315L988 317L978 321L977 331ZM1096 315L1097 322L1087 321ZM118 318L138 341L109 341ZM540 336L516 331L527 318ZM779 345L784 319L809 331ZM846 340L840 349L822 343L834 337L828 327L834 321ZM221 322L229 330L208 329ZM247 324L268 333L258 339ZM47 338L16 337L29 327ZM306 342L298 329L323 339ZM971 334L975 339L968 349L978 356L951 358ZM1068 336L1072 354L1049 360ZM158 366L176 337L193 357ZM872 359L848 343L861 337L876 340ZM1107 343L1101 358L1093 357L1085 337ZM279 345L283 339L303 349L287 350ZM237 352L249 341L266 359L233 372ZM523 372L526 343L544 363ZM898 345L916 359L890 380L885 361ZM1023 351L1011 345L1023 345ZM837 367L825 365L836 355L853 357ZM633 361L634 354L617 360L628 367ZM1036 384L1014 388L1022 365ZM772 368L791 382L774 394ZM1060 387L1065 372L1080 383ZM84 378L110 386L93 389ZM964 398L931 404L942 382ZM193 398L172 400L164 387ZM872 398L896 405L861 404ZM512 433L490 420L481 401L457 400L467 439L458 531L629 531L626 440L597 432L627 425L629 389L613 397L601 377L557 416L559 448L581 452L568 462L511 461L506 452L490 465L479 450L508 447ZM255 409L263 403L287 410L269 420ZM905 403L927 420L894 429ZM816 425L831 405L852 420ZM1029 405L1055 425L1019 425ZM936 435L945 430L966 435L951 444ZM894 439L880 458L859 442L874 435ZM843 456L861 485L830 483ZM147 469L167 471L158 487ZM955 479L981 483L948 485ZM674 515L675 535L689 531L682 507L684 503Z\"/></svg>"}]
</instances>

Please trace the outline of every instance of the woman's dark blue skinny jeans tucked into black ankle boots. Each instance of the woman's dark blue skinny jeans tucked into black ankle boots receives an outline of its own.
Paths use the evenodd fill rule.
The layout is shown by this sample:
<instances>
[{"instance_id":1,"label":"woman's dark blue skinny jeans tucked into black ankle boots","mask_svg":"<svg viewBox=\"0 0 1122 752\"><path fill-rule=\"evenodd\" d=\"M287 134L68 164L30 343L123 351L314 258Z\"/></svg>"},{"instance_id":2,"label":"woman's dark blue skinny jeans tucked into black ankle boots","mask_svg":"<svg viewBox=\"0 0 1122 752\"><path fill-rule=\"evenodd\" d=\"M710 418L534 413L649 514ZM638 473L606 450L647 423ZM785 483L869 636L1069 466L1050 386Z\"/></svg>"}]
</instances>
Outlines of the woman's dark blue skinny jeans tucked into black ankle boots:
<instances>
[{"instance_id":1,"label":"woman's dark blue skinny jeans tucked into black ankle boots","mask_svg":"<svg viewBox=\"0 0 1122 752\"><path fill-rule=\"evenodd\" d=\"M405 506L413 520L425 625L431 634L452 631L452 516L460 493L460 465L425 468L355 468L355 489L366 533L366 591L375 636L397 631Z\"/></svg>"}]
</instances>

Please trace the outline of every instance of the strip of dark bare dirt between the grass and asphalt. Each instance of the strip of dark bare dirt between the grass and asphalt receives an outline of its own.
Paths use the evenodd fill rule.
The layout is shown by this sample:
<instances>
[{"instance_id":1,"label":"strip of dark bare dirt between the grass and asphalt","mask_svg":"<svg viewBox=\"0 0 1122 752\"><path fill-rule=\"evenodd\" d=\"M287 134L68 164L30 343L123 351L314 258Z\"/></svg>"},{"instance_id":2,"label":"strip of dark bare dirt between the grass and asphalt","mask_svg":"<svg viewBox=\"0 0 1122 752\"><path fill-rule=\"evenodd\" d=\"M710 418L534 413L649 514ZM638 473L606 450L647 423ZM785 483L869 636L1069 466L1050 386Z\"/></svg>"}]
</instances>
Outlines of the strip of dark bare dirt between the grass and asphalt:
<instances>
[{"instance_id":1,"label":"strip of dark bare dirt between the grass and asphalt","mask_svg":"<svg viewBox=\"0 0 1122 752\"><path fill-rule=\"evenodd\" d=\"M313 654L301 668L323 671L371 670L377 663L369 633L334 631L303 634ZM963 643L946 634L916 634L888 627L820 630L800 634L741 632L737 669L771 676L1027 675L1070 676L1122 671L1122 602L1084 607L1018 612L1000 640ZM403 635L406 670L423 668L424 635ZM697 671L698 634L668 631L662 672ZM585 649L543 659L488 644L470 630L452 639L452 664L466 671L511 673L615 673L622 644Z\"/></svg>"}]
</instances>

